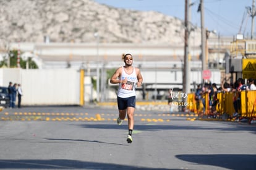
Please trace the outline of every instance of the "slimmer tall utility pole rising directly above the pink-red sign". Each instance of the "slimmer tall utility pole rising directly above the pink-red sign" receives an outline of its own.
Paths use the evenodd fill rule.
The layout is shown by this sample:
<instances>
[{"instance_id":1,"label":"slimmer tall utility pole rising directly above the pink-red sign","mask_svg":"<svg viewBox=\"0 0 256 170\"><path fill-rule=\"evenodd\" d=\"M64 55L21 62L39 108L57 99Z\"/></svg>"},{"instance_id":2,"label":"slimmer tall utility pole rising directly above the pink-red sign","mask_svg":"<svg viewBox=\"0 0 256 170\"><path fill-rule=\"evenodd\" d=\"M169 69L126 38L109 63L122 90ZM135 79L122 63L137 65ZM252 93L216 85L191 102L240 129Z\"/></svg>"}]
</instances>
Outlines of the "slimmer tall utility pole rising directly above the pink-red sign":
<instances>
[{"instance_id":1,"label":"slimmer tall utility pole rising directly above the pink-red sign","mask_svg":"<svg viewBox=\"0 0 256 170\"><path fill-rule=\"evenodd\" d=\"M205 41L206 41L206 32L205 32L205 16L204 16L204 6L203 0L200 0L200 12L201 12L201 41L202 41L202 76L203 70L207 70L207 65L205 62Z\"/></svg>"}]
</instances>

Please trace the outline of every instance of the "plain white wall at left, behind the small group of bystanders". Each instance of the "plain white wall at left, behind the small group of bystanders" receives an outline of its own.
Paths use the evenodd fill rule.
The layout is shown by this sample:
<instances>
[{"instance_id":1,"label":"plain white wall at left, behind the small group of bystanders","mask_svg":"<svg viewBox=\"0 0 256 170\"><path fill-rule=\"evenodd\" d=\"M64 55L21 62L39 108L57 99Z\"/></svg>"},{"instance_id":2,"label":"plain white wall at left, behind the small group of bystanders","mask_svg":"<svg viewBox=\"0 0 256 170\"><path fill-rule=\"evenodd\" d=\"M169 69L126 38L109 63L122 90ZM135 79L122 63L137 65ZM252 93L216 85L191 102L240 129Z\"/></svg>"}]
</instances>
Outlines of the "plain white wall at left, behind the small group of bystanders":
<instances>
[{"instance_id":1,"label":"plain white wall at left, behind the small group of bystanders","mask_svg":"<svg viewBox=\"0 0 256 170\"><path fill-rule=\"evenodd\" d=\"M72 69L0 69L0 85L22 85L24 105L80 104L80 72Z\"/></svg>"}]
</instances>

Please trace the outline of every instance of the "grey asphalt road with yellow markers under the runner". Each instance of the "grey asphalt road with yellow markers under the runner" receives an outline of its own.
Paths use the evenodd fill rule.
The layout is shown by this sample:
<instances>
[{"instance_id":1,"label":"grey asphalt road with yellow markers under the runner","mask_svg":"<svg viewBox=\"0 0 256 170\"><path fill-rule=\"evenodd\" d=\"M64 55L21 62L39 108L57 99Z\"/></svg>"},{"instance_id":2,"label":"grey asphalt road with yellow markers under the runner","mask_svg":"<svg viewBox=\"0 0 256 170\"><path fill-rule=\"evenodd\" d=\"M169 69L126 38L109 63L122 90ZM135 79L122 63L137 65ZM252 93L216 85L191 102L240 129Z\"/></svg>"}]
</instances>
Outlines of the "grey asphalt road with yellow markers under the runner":
<instances>
[{"instance_id":1,"label":"grey asphalt road with yellow markers under the runner","mask_svg":"<svg viewBox=\"0 0 256 170\"><path fill-rule=\"evenodd\" d=\"M136 111L28 107L0 113L0 169L256 169L256 125ZM98 117L97 117L98 116Z\"/></svg>"}]
</instances>

